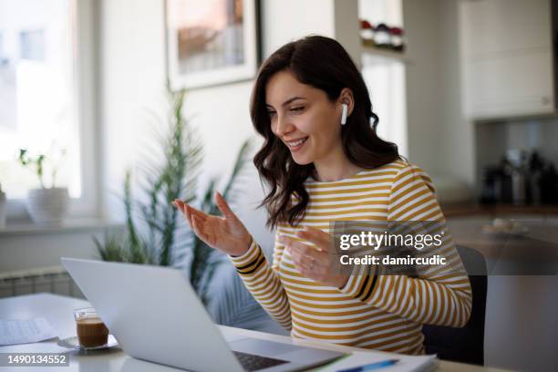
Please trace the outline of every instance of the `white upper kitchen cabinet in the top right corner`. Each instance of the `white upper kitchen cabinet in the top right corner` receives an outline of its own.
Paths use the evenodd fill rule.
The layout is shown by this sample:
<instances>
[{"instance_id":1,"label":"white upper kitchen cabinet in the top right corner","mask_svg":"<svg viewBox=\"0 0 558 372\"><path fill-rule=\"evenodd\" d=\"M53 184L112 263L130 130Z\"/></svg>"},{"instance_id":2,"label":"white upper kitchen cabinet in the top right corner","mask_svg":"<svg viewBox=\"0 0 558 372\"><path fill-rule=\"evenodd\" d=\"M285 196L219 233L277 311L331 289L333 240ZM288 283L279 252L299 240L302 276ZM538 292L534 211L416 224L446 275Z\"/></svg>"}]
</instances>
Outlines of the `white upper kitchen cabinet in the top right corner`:
<instances>
[{"instance_id":1,"label":"white upper kitchen cabinet in the top right corner","mask_svg":"<svg viewBox=\"0 0 558 372\"><path fill-rule=\"evenodd\" d=\"M460 2L463 108L469 118L554 111L551 1Z\"/></svg>"}]
</instances>

